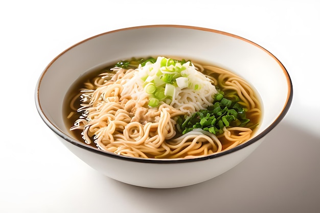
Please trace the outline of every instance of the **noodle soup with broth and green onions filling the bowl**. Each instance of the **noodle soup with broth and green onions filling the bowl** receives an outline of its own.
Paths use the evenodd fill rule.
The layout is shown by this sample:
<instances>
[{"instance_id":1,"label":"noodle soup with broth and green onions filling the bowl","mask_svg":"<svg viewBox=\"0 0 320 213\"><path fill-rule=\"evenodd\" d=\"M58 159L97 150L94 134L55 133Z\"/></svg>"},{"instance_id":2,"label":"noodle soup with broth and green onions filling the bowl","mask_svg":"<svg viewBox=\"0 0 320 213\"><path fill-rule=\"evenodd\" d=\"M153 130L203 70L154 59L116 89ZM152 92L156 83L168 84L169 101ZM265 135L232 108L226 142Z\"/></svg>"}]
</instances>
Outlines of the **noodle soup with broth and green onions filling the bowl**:
<instances>
[{"instance_id":1,"label":"noodle soup with broth and green onions filling the bowl","mask_svg":"<svg viewBox=\"0 0 320 213\"><path fill-rule=\"evenodd\" d=\"M255 89L192 60L132 58L90 70L67 92L65 124L83 143L140 158L194 158L232 149L257 130Z\"/></svg>"}]
</instances>

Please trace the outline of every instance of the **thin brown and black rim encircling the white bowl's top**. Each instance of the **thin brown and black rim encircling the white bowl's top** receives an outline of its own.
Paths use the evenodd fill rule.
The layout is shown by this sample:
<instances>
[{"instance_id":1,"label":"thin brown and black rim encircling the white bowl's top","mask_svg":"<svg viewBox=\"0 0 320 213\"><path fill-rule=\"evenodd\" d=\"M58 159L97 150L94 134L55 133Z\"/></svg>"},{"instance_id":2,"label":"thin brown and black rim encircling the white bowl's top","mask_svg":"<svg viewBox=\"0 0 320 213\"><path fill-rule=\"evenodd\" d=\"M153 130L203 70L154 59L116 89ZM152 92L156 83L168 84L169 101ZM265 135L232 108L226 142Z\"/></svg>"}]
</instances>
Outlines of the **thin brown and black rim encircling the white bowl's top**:
<instances>
[{"instance_id":1,"label":"thin brown and black rim encircling the white bowl's top","mask_svg":"<svg viewBox=\"0 0 320 213\"><path fill-rule=\"evenodd\" d=\"M127 30L134 30L134 29L143 29L143 28L185 28L185 29L192 29L192 30L200 30L200 31L207 31L207 32L213 32L213 33L217 33L217 34L221 34L221 35L226 35L226 36L231 36L237 39L240 39L242 41L245 41L247 43L253 44L255 46L257 46L259 49L263 50L265 53L267 53L268 55L270 55L282 68L283 73L286 77L287 80L287 87L288 87L288 94L287 94L287 100L284 104L284 107L281 111L281 113L279 114L279 116L276 118L276 120L270 124L265 130L263 130L261 133L259 133L258 135L256 135L254 138L249 139L248 141L246 141L245 143L238 145L230 150L226 150L226 151L222 151L219 153L213 153L210 155L206 155L206 156L202 156L202 157L196 157L196 158L173 158L173 159L155 159L155 158L137 158L137 157L130 157L130 156L124 156L124 155L118 155L112 152L108 152L108 151L104 151L98 148L94 148L91 147L89 145L86 145L78 140L75 140L69 136L67 136L66 134L64 134L62 131L59 130L59 128L57 128L52 122L50 122L50 120L48 119L48 117L45 115L44 111L42 110L41 104L40 104L40 99L39 99L39 89L40 89L40 85L41 85L41 81L45 75L45 73L47 73L48 69L51 67L51 65L60 57L62 56L64 53L66 53L67 51L70 51L71 49L75 48L75 46L78 46L88 40L97 38L99 36L103 36L106 34L111 34L111 33L115 33L115 32L119 32L119 31L127 31ZM135 27L127 27L127 28L122 28L122 29L117 29L117 30L112 30L112 31L108 31L108 32L104 32L89 38L86 38L72 46L70 46L70 48L67 48L66 50L64 50L63 52L61 52L58 56L56 56L43 70L43 72L41 73L37 84L36 84L36 89L35 89L35 104L36 104L36 108L37 111L41 117L41 119L43 120L43 122L54 132L56 133L59 137L61 137L62 139L64 139L65 141L67 141L68 143L71 143L74 146L77 146L79 148L85 149L87 151L90 152L94 152L96 154L100 154L100 155L104 155L107 157L112 157L112 158L117 158L117 159L121 159L121 160L128 160L128 161L135 161L135 162L143 162L143 163L182 163L182 162L194 162L194 161L202 161L202 160L207 160L207 159L212 159L212 158L217 158L220 156L224 156L227 155L229 153L233 153L236 152L238 150L241 150L249 145L254 144L256 141L258 141L259 139L261 139L262 137L264 137L268 132L270 132L273 128L275 128L280 122L281 120L284 118L284 116L286 115L286 113L288 112L290 105L292 103L292 98L293 98L293 87L292 87L292 81L291 78L287 72L287 69L284 67L284 65L280 62L280 60L278 60L278 58L276 56L274 56L273 54L271 54L269 51L267 51L266 49L264 49L262 46L258 45L257 43L250 41L248 39L245 39L243 37L240 37L238 35L232 34L232 33L227 33L227 32L223 32L223 31L219 31L219 30L214 30L214 29L209 29L209 28L203 28L203 27L195 27L195 26L186 26L186 25L145 25L145 26L135 26Z\"/></svg>"}]
</instances>

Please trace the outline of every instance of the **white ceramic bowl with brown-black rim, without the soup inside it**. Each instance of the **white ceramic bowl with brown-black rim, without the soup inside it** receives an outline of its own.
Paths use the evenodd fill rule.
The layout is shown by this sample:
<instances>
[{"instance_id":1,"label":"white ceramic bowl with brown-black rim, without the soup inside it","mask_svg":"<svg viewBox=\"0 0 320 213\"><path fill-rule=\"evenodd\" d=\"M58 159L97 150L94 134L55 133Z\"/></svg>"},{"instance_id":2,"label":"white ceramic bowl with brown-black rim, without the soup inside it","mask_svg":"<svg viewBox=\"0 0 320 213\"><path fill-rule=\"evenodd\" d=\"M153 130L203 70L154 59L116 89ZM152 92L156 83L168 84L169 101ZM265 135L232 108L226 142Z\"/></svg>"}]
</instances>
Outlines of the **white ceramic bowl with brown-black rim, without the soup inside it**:
<instances>
[{"instance_id":1,"label":"white ceramic bowl with brown-black rim, without the soup inside it","mask_svg":"<svg viewBox=\"0 0 320 213\"><path fill-rule=\"evenodd\" d=\"M195 159L131 158L101 151L76 140L62 117L62 101L71 84L95 66L133 56L155 55L211 62L232 70L254 85L261 96L264 112L255 136L231 150ZM170 188L209 180L230 170L252 153L288 111L292 84L281 62L252 41L217 30L163 25L106 32L73 45L44 69L35 96L44 123L88 165L128 184Z\"/></svg>"}]
</instances>

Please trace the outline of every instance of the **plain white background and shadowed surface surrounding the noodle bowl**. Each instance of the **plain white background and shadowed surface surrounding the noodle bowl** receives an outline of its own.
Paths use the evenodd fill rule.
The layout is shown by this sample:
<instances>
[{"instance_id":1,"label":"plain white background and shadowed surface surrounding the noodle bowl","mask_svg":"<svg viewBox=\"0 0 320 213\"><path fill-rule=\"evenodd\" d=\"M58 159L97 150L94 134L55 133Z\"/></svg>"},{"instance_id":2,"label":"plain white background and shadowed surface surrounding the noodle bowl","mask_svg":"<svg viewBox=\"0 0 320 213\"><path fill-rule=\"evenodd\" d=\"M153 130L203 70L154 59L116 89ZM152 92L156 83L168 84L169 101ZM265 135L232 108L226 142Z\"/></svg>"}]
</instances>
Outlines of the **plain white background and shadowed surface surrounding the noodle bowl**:
<instances>
[{"instance_id":1,"label":"plain white background and shadowed surface surrounding the noodle bowl","mask_svg":"<svg viewBox=\"0 0 320 213\"><path fill-rule=\"evenodd\" d=\"M2 1L0 212L320 212L319 14L317 0ZM89 168L34 104L42 70L71 45L155 24L212 28L258 43L287 68L294 93L283 121L237 167L167 190Z\"/></svg>"}]
</instances>

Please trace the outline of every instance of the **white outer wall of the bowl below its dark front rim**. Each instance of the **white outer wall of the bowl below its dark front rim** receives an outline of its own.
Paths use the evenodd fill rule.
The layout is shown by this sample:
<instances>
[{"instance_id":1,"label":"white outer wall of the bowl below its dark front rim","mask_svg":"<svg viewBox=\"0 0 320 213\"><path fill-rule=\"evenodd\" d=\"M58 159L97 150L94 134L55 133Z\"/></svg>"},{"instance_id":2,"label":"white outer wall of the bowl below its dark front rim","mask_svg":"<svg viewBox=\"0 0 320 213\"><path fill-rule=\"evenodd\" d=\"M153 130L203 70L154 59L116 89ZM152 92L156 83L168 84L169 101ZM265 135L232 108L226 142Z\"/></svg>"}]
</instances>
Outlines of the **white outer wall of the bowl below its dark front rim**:
<instances>
[{"instance_id":1,"label":"white outer wall of the bowl below its dark front rim","mask_svg":"<svg viewBox=\"0 0 320 213\"><path fill-rule=\"evenodd\" d=\"M232 169L251 154L261 143L217 158L182 163L145 163L123 160L75 146L63 138L61 142L90 167L112 179L149 188L174 188L212 179Z\"/></svg>"}]
</instances>

